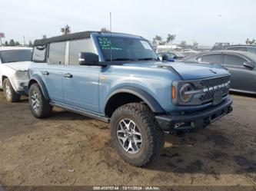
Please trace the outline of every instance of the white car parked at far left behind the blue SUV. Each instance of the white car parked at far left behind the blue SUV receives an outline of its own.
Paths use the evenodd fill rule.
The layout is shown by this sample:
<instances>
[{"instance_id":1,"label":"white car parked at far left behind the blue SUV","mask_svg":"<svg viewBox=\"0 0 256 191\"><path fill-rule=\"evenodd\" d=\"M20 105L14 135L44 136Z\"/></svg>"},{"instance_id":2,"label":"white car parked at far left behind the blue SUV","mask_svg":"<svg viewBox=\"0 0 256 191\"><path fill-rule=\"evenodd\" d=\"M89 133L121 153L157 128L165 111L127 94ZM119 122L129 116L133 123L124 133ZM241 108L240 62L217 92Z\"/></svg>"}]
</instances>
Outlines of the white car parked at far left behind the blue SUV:
<instances>
[{"instance_id":1,"label":"white car parked at far left behind the blue SUV","mask_svg":"<svg viewBox=\"0 0 256 191\"><path fill-rule=\"evenodd\" d=\"M18 101L28 92L28 68L32 64L32 48L0 47L0 89L6 100Z\"/></svg>"}]
</instances>

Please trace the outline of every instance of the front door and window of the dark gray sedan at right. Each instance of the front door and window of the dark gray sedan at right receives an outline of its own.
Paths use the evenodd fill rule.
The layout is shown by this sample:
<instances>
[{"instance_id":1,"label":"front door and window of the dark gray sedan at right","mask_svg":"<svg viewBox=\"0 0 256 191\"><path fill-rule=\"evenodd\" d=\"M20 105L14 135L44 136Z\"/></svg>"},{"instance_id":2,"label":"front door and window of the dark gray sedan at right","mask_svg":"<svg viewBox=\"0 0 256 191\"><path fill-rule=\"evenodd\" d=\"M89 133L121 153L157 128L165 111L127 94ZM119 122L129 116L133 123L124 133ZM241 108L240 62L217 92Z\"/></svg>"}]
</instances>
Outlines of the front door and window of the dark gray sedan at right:
<instances>
[{"instance_id":1,"label":"front door and window of the dark gray sedan at right","mask_svg":"<svg viewBox=\"0 0 256 191\"><path fill-rule=\"evenodd\" d=\"M244 67L248 61L237 54L224 54L223 65L231 73L231 88L239 91L255 91L256 74L254 70Z\"/></svg>"}]
</instances>

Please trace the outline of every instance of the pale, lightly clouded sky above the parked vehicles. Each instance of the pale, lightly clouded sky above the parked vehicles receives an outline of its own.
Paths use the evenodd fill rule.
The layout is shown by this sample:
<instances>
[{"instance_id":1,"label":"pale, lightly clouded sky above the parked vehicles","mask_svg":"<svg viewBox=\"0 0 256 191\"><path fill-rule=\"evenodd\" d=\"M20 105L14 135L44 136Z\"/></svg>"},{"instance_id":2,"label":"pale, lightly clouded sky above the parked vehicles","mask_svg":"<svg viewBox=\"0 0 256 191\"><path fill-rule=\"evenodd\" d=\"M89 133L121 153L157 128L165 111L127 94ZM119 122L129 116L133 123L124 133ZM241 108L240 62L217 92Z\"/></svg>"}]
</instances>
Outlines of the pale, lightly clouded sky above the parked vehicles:
<instances>
[{"instance_id":1,"label":"pale, lightly clouded sky above the parked vehicles","mask_svg":"<svg viewBox=\"0 0 256 191\"><path fill-rule=\"evenodd\" d=\"M256 38L255 0L1 0L0 31L5 40L34 41L71 31L109 28L151 40L177 35L175 43L212 45L217 41L244 43Z\"/></svg>"}]
</instances>

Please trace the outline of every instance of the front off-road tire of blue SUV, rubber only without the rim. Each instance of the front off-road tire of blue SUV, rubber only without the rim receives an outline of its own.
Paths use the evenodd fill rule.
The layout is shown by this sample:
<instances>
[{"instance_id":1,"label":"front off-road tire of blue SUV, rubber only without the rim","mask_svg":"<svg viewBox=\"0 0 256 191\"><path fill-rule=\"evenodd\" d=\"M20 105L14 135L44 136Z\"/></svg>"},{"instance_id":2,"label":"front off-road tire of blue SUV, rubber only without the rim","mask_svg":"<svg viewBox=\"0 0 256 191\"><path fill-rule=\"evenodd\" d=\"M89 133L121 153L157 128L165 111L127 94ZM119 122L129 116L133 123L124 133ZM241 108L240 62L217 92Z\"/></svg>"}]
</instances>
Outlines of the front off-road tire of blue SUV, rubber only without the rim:
<instances>
[{"instance_id":1,"label":"front off-road tire of blue SUV, rubber only without the rim","mask_svg":"<svg viewBox=\"0 0 256 191\"><path fill-rule=\"evenodd\" d=\"M128 153L118 141L117 130L121 120L131 119L142 135L141 149L138 153ZM111 142L121 158L135 166L145 166L159 155L165 143L165 135L155 120L155 115L140 103L125 104L118 107L111 116Z\"/></svg>"}]
</instances>

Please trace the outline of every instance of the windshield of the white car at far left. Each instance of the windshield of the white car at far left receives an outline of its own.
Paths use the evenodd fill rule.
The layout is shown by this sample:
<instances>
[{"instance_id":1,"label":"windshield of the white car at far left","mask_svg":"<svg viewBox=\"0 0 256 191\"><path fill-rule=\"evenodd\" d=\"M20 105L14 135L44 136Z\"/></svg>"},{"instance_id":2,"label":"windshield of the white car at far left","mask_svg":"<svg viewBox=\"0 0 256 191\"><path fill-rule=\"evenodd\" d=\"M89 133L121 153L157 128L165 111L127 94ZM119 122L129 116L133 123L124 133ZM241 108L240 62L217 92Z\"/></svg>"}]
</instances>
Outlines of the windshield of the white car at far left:
<instances>
[{"instance_id":1,"label":"windshield of the white car at far left","mask_svg":"<svg viewBox=\"0 0 256 191\"><path fill-rule=\"evenodd\" d=\"M9 50L0 51L0 58L2 63L16 62L16 61L31 61L32 50Z\"/></svg>"}]
</instances>

